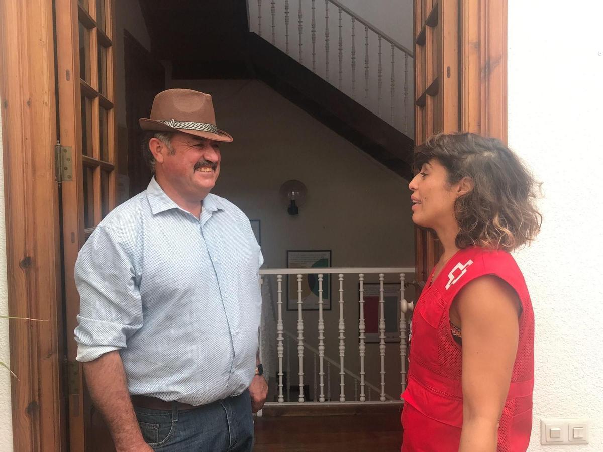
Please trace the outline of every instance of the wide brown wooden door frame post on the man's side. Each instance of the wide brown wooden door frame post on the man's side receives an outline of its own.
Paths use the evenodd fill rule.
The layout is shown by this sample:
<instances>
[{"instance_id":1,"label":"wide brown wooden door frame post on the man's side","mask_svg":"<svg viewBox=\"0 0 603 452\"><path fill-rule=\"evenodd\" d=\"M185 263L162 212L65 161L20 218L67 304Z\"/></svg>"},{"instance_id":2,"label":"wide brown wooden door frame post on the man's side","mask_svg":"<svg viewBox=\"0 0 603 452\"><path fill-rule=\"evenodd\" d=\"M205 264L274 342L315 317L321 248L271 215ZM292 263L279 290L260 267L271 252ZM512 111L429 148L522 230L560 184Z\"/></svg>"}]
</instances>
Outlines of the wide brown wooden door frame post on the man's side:
<instances>
[{"instance_id":1,"label":"wide brown wooden door frame post on the man's side","mask_svg":"<svg viewBox=\"0 0 603 452\"><path fill-rule=\"evenodd\" d=\"M13 448L66 450L51 0L0 2Z\"/></svg>"}]
</instances>

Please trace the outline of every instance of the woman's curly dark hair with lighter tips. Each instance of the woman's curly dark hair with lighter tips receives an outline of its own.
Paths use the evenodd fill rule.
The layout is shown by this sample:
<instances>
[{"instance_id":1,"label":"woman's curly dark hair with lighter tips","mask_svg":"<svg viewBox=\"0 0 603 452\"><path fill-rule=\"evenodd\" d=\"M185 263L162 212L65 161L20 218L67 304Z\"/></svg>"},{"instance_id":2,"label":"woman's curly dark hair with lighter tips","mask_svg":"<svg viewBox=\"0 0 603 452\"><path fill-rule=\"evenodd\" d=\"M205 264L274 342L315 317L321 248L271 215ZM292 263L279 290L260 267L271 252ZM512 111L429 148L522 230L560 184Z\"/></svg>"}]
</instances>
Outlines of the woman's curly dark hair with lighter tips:
<instances>
[{"instance_id":1,"label":"woman's curly dark hair with lighter tips","mask_svg":"<svg viewBox=\"0 0 603 452\"><path fill-rule=\"evenodd\" d=\"M432 159L447 169L449 184L464 177L473 181L473 189L455 203L458 248L512 251L534 240L542 223L535 207L540 184L504 143L473 133L442 133L415 148L414 171Z\"/></svg>"}]
</instances>

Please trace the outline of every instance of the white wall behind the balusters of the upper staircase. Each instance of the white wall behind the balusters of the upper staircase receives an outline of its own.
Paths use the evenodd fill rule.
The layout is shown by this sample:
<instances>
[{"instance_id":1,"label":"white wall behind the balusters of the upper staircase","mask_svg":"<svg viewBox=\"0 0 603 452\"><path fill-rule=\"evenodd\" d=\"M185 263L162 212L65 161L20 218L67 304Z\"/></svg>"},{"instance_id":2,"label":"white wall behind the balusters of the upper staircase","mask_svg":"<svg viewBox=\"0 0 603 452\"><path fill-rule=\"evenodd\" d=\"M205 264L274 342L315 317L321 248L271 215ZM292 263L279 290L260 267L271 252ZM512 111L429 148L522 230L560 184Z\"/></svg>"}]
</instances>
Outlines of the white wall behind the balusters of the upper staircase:
<instances>
[{"instance_id":1,"label":"white wall behind the balusters of the upper staircase","mask_svg":"<svg viewBox=\"0 0 603 452\"><path fill-rule=\"evenodd\" d=\"M347 8L353 11L382 33L396 40L409 51L414 51L412 40L412 0L343 0ZM271 2L263 1L258 10L256 0L248 0L250 30L259 34L261 15L262 37L272 42ZM315 73L326 80L326 7L324 1L316 1L315 5ZM275 2L274 30L275 45L286 51L285 1ZM298 2L289 2L289 55L299 61L299 28ZM302 36L301 63L312 69L312 2L301 2ZM341 90L353 97L360 104L365 103L365 28L356 22L355 25L355 90L352 90L352 20L345 11L341 15L342 40L342 77ZM381 49L381 101L379 102L379 43L377 35L368 31L368 99L367 108L406 135L412 137L413 129L413 60L402 51L394 51L394 91L392 102L391 91L391 45L382 40ZM339 87L339 14L338 8L329 2L329 81ZM404 108L406 69L406 109ZM353 95L353 92L355 95ZM391 105L394 105L394 119L391 121ZM405 116L406 112L406 116Z\"/></svg>"}]
</instances>

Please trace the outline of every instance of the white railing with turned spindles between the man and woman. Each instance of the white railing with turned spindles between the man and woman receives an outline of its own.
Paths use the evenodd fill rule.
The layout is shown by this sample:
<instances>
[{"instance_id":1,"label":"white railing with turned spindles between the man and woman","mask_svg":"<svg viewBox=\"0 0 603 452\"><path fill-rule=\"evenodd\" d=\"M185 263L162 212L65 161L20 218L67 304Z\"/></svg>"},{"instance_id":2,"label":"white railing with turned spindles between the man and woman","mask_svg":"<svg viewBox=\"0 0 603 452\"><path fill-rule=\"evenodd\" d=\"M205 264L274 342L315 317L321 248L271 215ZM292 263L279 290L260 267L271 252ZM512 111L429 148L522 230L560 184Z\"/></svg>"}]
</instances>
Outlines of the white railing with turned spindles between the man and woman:
<instances>
[{"instance_id":1,"label":"white railing with turned spindles between the man and woman","mask_svg":"<svg viewBox=\"0 0 603 452\"><path fill-rule=\"evenodd\" d=\"M408 303L405 299L405 281L406 281L406 274L407 273L412 273L414 274L414 268L408 268L408 267L399 267L399 268L387 268L387 267L383 267L383 268L288 268L288 269L262 269L260 270L260 277L261 277L261 283L264 284L265 282L265 278L276 278L276 283L277 283L277 287L276 287L276 295L277 295L277 300L276 300L276 307L277 309L271 309L272 315L275 314L276 311L276 315L277 315L277 319L276 319L276 331L273 331L271 333L267 333L266 331L262 331L262 334L260 337L265 337L266 334L274 334L274 336L270 336L270 337L275 337L276 336L276 350L274 353L274 356L277 360L277 372L275 372L276 377L277 377L277 384L276 384L276 388L277 388L277 396L275 398L275 400L278 400L278 403L285 403L287 401L290 401L290 397L291 397L291 386L298 386L299 388L299 394L298 394L298 398L297 401L298 403L304 403L306 401L306 394L308 395L308 398L310 400L318 400L319 403L328 403L330 401L332 401L331 399L331 372L330 372L330 366L335 366L336 369L338 369L338 372L334 376L336 380L338 380L336 382L336 385L339 386L339 396L335 395L336 400L338 400L337 403L346 403L346 401L348 400L348 397L346 397L346 377L347 378L352 378L353 380L353 385L354 385L354 401L360 401L360 403L364 403L365 401L367 401L367 395L368 395L368 400L370 401L373 395L373 392L375 394L379 395L379 400L381 402L386 402L386 401L393 401L393 400L397 400L397 398L392 397L390 394L393 392L394 394L400 394L403 389L404 389L404 385L405 385L405 380L406 380L406 367L405 367L405 363L406 363L406 322L407 322L407 318L406 318L406 314L413 309L414 304L413 303ZM283 276L288 275L289 278L289 283L290 284L294 284L289 290L283 290L283 281L285 281L285 279L283 278ZM314 286L316 290L317 296L318 296L318 316L317 316L317 336L314 336L314 334L311 334L311 337L315 338L315 344L317 345L317 347L312 347L311 344L308 344L308 339L306 339L305 336L305 331L308 330L308 328L306 328L305 325L305 318L304 318L304 306L305 306L305 296L308 296L308 287L306 287L306 285L308 285L308 275L312 275L312 277L314 278L314 281L317 282L317 286ZM327 322L326 318L325 318L325 313L324 313L324 304L325 304L325 300L329 301L329 306L330 306L330 286L328 284L331 284L332 278L330 277L330 275L336 275L337 276L337 281L338 281L338 310L337 312L333 312L333 315L329 316L329 319L332 319L332 322ZM345 290L345 284L344 283L348 283L348 286L350 286L351 283L353 283L353 281L350 281L349 279L346 280L346 275L357 275L358 277L358 290L356 291L355 295L350 296L349 295L349 290L346 292ZM390 275L390 277L386 277L386 275ZM328 278L327 278L328 277ZM396 283L386 283L386 280L392 281L392 277L395 277L395 281ZM369 301L374 301L375 303L377 303L377 312L376 312L376 316L377 316L377 324L369 324L372 328L373 331L374 328L376 327L376 331L377 333L371 333L370 336L371 337L376 337L378 339L378 344L379 344L379 355L378 355L378 359L379 359L379 383L377 383L377 385L373 385L371 383L369 383L367 381L366 378L366 359L367 359L367 353L368 352L368 347L367 347L367 324L366 324L366 316L365 316L365 309L366 309L366 300L367 298L365 298L365 284L367 284L367 280L368 281L374 281L378 278L378 292L379 292L379 296L378 299L377 298L368 298ZM327 283L328 281L328 283ZM327 286L325 286L325 284L327 284ZM373 284L373 287L376 287L376 285ZM388 298L386 300L385 297L385 284L388 284ZM391 287L391 284L399 284L398 286L394 286ZM268 288L270 288L270 284L268 284ZM304 291L304 289L306 289L306 292ZM328 290L328 292L327 292ZM375 292L373 289L371 297L375 297ZM392 292L392 290L394 292ZM397 293L396 291L399 290L400 296L399 296L399 304L397 304L397 307L394 307L394 309L397 309L398 311L398 318L397 319L392 319L391 318L391 303L393 302L392 300L392 293L394 293L394 296L397 297L397 295L395 295L395 293ZM268 289L266 291L266 293L270 293L271 290ZM263 291L264 293L264 291ZM283 293L287 293L287 304L290 306L295 306L295 311L297 314L297 333L292 333L286 330L285 327L285 313L283 313ZM289 293L291 293L291 296L289 296ZM294 295L295 294L295 295ZM264 294L264 296L266 296ZM270 299L272 297L270 296ZM265 298L265 300L267 300ZM388 321L386 321L386 301L387 301L387 306L388 306ZM396 300L397 301L397 300ZM358 303L358 355L356 355L356 360L354 359L348 359L347 360L347 365L346 365L346 322L345 322L345 312L346 312L346 305L347 306L351 306L351 303ZM274 306L274 304L272 304L272 306ZM270 306L270 304L268 305ZM369 305L371 306L371 305ZM372 305L374 306L374 305ZM349 309L349 307L347 309ZM330 308L329 308L330 309ZM291 312L291 314L293 314L294 312ZM374 315L375 313L373 313ZM316 317L314 316L314 318L316 319ZM288 317L288 323L291 325L291 327L293 328L295 325L295 317L293 316L289 316ZM371 317L371 319L373 319L373 317ZM394 322L393 322L394 321ZM391 330L391 325L394 324L396 325L394 327L394 330ZM274 323L273 323L274 325ZM274 326L273 326L274 328ZM396 331L397 333L393 333L393 331ZM310 330L308 330L310 331ZM336 331L336 332L335 332ZM371 331L371 330L369 330ZM349 336L350 334L348 334ZM397 339L395 339L397 338ZM294 382L291 381L291 360L290 360L290 354L289 354L289 340L292 339L294 341L297 342L297 357L298 357L298 369L297 369L297 374L298 374L298 381ZM394 341L399 340L399 347L400 347L400 361L401 361L401 366L397 367L397 360L394 359L394 362L392 363L390 361L390 366L387 366L387 362L388 359L393 359L393 358L388 358L386 356L386 351L388 350L387 347L387 342L391 342L391 340L394 339ZM373 341L374 342L374 341ZM325 353L326 350L326 346L330 345L331 347L329 347L329 350L336 350L338 351L338 359L332 359L331 357L327 356ZM273 345L274 347L274 345ZM285 350L286 350L286 354L285 354ZM374 349L371 349L374 350ZM309 351L309 353L305 353L305 351ZM337 353L337 352L335 352ZM310 363L310 365L312 366L312 364L314 365L314 372L312 375L308 375L305 373L305 356L311 357L313 360L313 363ZM388 355L390 356L390 355ZM368 357L370 357L371 359L376 358L376 356L373 356L372 354L370 354ZM286 370L283 369L283 366L285 366L285 358L286 358ZM353 356L352 356L353 358ZM354 363L354 364L351 364ZM394 367L392 367L392 365L394 365ZM358 366L358 373L356 374L355 372L350 371L350 366ZM373 365L371 365L373 366ZM400 370L400 377L401 377L401 385L398 386L396 383L396 388L394 389L390 389L388 391L386 391L386 384L387 384L387 379L386 379L386 375L388 374L388 372L392 372L393 369L399 369ZM376 369L375 369L376 370ZM294 369L295 371L295 369ZM397 371L394 371L397 372ZM285 377L286 377L286 383L285 381ZM312 380L312 381L311 381ZM397 380L400 381L400 380ZM391 384L391 378L390 378L390 384ZM312 391L305 393L305 386L306 385L311 385L309 386L309 388L311 388L311 390L313 389L313 394ZM358 386L360 386L360 394L358 395ZM306 387L306 390L308 389L308 387ZM286 390L286 398L285 398L285 390ZM368 391L367 391L368 390ZM312 397L313 396L313 397ZM351 399L351 397L350 397ZM351 400L350 400L351 401Z\"/></svg>"}]
</instances>

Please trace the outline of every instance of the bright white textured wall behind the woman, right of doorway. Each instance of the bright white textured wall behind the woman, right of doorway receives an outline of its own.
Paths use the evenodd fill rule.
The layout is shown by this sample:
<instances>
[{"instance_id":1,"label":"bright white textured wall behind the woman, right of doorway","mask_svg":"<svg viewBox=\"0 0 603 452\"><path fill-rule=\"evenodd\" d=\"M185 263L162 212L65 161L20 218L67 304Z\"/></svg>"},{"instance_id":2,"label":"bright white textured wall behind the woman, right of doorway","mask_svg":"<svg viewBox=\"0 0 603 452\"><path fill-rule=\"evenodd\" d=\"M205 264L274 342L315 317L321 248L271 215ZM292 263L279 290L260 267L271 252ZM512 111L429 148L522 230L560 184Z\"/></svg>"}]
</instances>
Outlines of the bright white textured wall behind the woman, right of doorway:
<instances>
[{"instance_id":1,"label":"bright white textured wall behind the woman, right of doorway","mask_svg":"<svg viewBox=\"0 0 603 452\"><path fill-rule=\"evenodd\" d=\"M603 450L603 4L510 0L509 143L543 182L543 228L517 253L536 318L534 430L540 419L590 418ZM535 20L535 21L534 21Z\"/></svg>"}]
</instances>

